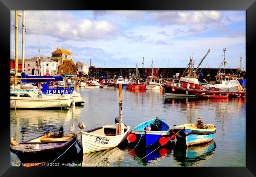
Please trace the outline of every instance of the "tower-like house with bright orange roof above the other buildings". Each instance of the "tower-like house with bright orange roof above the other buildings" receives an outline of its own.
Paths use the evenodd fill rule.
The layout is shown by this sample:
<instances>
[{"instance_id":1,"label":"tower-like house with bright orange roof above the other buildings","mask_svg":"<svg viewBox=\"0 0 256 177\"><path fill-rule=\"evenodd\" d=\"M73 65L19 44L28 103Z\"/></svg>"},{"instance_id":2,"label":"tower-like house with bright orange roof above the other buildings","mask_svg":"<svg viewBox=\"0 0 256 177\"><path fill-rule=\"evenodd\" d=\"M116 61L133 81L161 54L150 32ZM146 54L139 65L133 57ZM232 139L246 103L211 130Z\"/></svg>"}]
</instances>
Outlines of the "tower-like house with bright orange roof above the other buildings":
<instances>
[{"instance_id":1,"label":"tower-like house with bright orange roof above the other buildings","mask_svg":"<svg viewBox=\"0 0 256 177\"><path fill-rule=\"evenodd\" d=\"M72 60L73 53L60 49L59 46L56 51L52 52L52 56L48 57L51 60L57 61L59 65L63 64L63 60Z\"/></svg>"}]
</instances>

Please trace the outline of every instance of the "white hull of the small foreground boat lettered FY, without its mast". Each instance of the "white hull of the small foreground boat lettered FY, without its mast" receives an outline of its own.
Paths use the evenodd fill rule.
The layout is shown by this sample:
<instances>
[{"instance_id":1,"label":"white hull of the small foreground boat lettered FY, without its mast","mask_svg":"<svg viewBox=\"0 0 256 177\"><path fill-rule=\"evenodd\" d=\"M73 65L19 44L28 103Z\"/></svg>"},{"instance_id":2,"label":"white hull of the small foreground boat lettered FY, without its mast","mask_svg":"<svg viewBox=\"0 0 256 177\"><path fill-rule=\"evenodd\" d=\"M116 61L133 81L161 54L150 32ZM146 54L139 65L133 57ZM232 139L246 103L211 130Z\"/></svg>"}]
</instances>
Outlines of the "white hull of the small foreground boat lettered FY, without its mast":
<instances>
[{"instance_id":1,"label":"white hull of the small foreground boat lettered FY, without its mast","mask_svg":"<svg viewBox=\"0 0 256 177\"><path fill-rule=\"evenodd\" d=\"M104 127L115 127L115 125L106 125ZM102 151L105 149L109 149L112 147L118 146L123 140L126 139L130 127L126 129L124 133L121 135L114 136L106 136L106 135L98 135L93 133L82 132L76 135L78 136L78 146L83 149L83 154L91 153L95 151Z\"/></svg>"}]
</instances>

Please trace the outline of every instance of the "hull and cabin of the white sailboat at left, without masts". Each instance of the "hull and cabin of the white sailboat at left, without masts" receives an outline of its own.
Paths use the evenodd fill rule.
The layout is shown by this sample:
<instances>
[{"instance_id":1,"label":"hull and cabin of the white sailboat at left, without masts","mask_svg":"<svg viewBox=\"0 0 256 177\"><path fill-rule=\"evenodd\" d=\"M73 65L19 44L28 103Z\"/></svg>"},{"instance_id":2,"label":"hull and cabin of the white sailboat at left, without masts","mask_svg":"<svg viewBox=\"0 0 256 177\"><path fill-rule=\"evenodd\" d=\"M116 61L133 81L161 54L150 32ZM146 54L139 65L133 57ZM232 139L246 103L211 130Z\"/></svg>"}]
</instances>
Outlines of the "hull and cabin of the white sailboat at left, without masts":
<instances>
[{"instance_id":1,"label":"hull and cabin of the white sailboat at left, without masts","mask_svg":"<svg viewBox=\"0 0 256 177\"><path fill-rule=\"evenodd\" d=\"M41 109L69 107L72 101L71 94L55 96L42 94L36 90L10 90L10 109Z\"/></svg>"}]
</instances>

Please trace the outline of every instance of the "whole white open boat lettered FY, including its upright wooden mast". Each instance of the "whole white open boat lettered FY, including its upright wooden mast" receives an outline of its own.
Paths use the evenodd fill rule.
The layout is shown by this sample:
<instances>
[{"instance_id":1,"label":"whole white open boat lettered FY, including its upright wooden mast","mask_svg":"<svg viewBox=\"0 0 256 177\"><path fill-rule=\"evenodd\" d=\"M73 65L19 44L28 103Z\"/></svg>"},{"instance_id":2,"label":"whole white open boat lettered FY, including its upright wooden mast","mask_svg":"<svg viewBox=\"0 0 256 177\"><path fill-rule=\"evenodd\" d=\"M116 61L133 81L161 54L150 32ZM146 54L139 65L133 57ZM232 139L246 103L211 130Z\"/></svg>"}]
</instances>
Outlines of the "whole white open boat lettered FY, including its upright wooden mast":
<instances>
[{"instance_id":1,"label":"whole white open boat lettered FY, including its upright wooden mast","mask_svg":"<svg viewBox=\"0 0 256 177\"><path fill-rule=\"evenodd\" d=\"M116 125L105 125L75 134L78 137L78 146L83 150L83 154L116 147L126 139L130 127L122 123L121 94L122 86L120 85L119 122Z\"/></svg>"}]
</instances>

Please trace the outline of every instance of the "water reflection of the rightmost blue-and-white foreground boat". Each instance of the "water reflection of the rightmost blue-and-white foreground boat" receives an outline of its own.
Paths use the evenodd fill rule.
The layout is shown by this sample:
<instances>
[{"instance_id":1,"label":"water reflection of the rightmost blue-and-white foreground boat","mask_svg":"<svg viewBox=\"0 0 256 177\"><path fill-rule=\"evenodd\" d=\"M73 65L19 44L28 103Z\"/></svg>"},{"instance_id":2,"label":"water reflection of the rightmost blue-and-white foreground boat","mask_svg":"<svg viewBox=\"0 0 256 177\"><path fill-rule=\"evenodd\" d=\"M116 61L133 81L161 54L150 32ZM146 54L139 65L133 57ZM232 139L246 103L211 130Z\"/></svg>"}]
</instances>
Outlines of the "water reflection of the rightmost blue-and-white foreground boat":
<instances>
[{"instance_id":1,"label":"water reflection of the rightmost blue-and-white foreground boat","mask_svg":"<svg viewBox=\"0 0 256 177\"><path fill-rule=\"evenodd\" d=\"M187 166L197 166L210 159L215 152L216 144L211 141L201 146L180 147L173 150L173 157L177 164Z\"/></svg>"}]
</instances>

